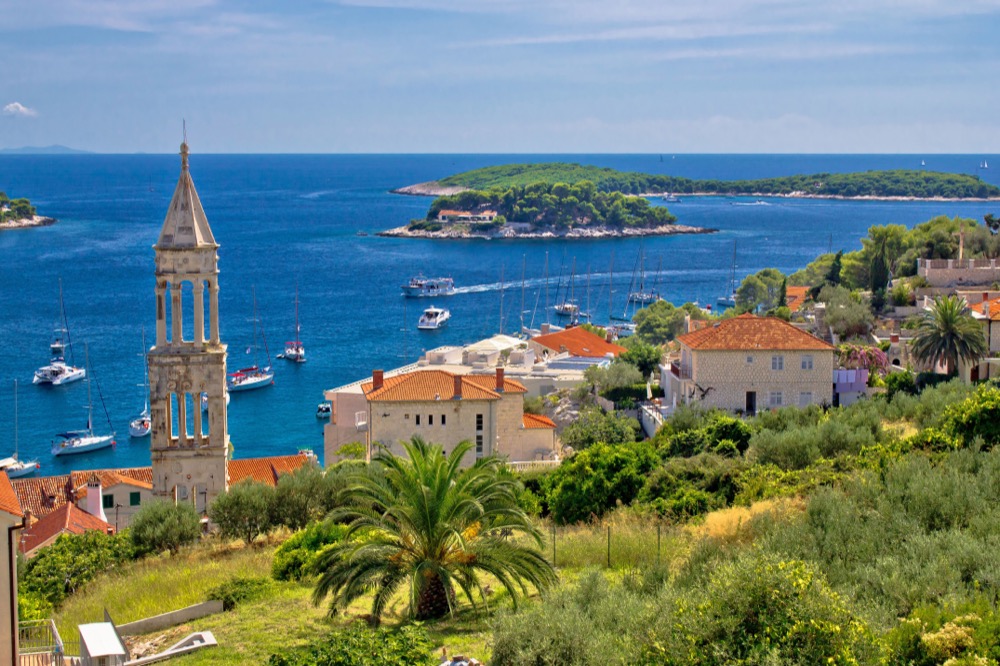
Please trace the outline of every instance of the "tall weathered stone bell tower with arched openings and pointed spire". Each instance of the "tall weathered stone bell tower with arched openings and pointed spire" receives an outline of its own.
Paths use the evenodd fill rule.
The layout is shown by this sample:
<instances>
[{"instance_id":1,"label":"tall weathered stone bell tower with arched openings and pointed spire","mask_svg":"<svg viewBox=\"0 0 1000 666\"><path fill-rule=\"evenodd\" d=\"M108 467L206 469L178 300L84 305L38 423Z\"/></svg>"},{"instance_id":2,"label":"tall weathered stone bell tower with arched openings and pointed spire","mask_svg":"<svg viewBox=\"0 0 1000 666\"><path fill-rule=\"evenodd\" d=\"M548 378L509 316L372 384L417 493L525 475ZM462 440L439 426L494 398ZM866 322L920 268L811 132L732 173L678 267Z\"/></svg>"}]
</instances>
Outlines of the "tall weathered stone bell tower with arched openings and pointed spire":
<instances>
[{"instance_id":1,"label":"tall weathered stone bell tower with arched openings and pointed spire","mask_svg":"<svg viewBox=\"0 0 1000 666\"><path fill-rule=\"evenodd\" d=\"M188 171L185 139L181 175L153 246L156 344L148 356L150 453L153 494L191 502L199 513L228 487L226 345L219 339L218 248ZM185 321L188 317L190 324ZM208 396L207 418L202 414L202 393Z\"/></svg>"}]
</instances>

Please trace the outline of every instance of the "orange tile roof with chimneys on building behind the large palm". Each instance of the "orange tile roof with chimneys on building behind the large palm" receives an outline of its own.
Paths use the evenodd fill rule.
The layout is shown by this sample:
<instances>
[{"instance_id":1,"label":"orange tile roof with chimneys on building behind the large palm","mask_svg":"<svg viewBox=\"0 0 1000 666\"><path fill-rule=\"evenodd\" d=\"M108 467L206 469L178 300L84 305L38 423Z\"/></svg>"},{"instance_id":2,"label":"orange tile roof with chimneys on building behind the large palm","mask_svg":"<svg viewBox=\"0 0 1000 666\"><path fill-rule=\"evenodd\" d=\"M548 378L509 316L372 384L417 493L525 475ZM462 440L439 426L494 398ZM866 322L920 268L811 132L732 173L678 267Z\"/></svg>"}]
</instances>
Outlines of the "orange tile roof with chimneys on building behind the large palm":
<instances>
[{"instance_id":1,"label":"orange tile roof with chimneys on building behind the large palm","mask_svg":"<svg viewBox=\"0 0 1000 666\"><path fill-rule=\"evenodd\" d=\"M499 400L494 375L456 375L445 370L416 370L386 377L382 387L372 389L372 382L361 385L365 397L373 402L430 402L455 398L455 377L462 378L463 400ZM505 393L527 393L528 389L513 379L504 378Z\"/></svg>"}]
</instances>

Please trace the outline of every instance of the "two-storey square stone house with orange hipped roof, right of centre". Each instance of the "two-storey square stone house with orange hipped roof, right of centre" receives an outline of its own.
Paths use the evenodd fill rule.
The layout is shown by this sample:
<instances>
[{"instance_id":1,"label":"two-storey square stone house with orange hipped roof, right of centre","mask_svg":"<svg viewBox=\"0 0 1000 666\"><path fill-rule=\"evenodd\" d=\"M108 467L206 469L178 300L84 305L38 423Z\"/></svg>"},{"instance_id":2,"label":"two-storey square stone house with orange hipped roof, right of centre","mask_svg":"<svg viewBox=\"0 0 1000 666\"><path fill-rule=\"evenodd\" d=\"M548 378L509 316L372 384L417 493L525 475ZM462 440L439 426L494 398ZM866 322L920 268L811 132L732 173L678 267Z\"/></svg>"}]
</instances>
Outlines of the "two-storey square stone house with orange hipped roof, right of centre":
<instances>
[{"instance_id":1,"label":"two-storey square stone house with orange hipped roof, right of centre","mask_svg":"<svg viewBox=\"0 0 1000 666\"><path fill-rule=\"evenodd\" d=\"M833 346L781 319L744 314L677 342L661 379L668 403L747 414L833 404Z\"/></svg>"}]
</instances>

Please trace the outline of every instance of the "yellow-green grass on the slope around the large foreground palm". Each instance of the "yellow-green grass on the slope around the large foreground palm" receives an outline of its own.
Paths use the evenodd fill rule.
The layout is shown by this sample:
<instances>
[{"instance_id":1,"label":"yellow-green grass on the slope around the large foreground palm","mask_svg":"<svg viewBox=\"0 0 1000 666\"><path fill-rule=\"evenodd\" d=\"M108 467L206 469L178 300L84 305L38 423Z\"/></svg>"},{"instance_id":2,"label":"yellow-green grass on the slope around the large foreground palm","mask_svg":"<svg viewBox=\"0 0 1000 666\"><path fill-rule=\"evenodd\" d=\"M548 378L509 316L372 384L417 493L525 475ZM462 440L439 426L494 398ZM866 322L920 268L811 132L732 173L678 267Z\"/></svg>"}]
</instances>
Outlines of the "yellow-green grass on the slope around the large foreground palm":
<instances>
[{"instance_id":1,"label":"yellow-green grass on the slope around the large foreground palm","mask_svg":"<svg viewBox=\"0 0 1000 666\"><path fill-rule=\"evenodd\" d=\"M619 516L607 523L558 528L556 557L564 582L575 580L583 569L605 566L608 526L612 534L613 568L628 570L655 564L655 523ZM543 530L547 535L545 547L551 553L551 528ZM660 534L662 561L670 563L686 550L686 543L686 534L664 527ZM105 608L117 623L123 624L205 601L208 590L232 578L269 577L275 548L275 543L256 548L210 543L175 557L133 563L99 577L70 597L57 614L56 625L64 640L73 642L78 640L75 627L102 620ZM496 584L492 587L499 588ZM178 666L264 663L280 649L303 645L331 627L361 621L368 612L369 600L362 599L346 613L331 618L325 605L313 605L311 594L311 584L275 582L271 592L258 601L137 637L133 651L138 647L141 654L152 654L194 631L211 631L219 647L207 648L171 663ZM444 648L451 655L467 654L487 659L492 613L509 607L509 600L502 591L494 592L488 606L487 609L480 603L474 608L463 603L453 617L425 624L437 646L435 651L440 654ZM402 623L405 610L405 600L397 599L386 613L385 624Z\"/></svg>"}]
</instances>

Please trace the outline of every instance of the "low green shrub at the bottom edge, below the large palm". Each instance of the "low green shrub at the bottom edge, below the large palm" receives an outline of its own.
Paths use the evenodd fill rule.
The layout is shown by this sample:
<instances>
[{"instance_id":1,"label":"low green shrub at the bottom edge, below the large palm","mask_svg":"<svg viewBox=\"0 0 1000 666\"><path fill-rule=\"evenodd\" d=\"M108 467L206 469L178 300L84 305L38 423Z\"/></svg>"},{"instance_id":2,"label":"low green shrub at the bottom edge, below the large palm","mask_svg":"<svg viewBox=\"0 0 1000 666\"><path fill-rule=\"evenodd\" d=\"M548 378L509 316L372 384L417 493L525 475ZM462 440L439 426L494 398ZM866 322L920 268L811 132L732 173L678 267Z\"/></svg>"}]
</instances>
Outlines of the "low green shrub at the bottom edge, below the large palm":
<instances>
[{"instance_id":1,"label":"low green shrub at the bottom edge, below the large palm","mask_svg":"<svg viewBox=\"0 0 1000 666\"><path fill-rule=\"evenodd\" d=\"M421 666L436 664L434 647L420 626L369 629L354 625L331 631L300 648L271 655L269 666Z\"/></svg>"}]
</instances>

